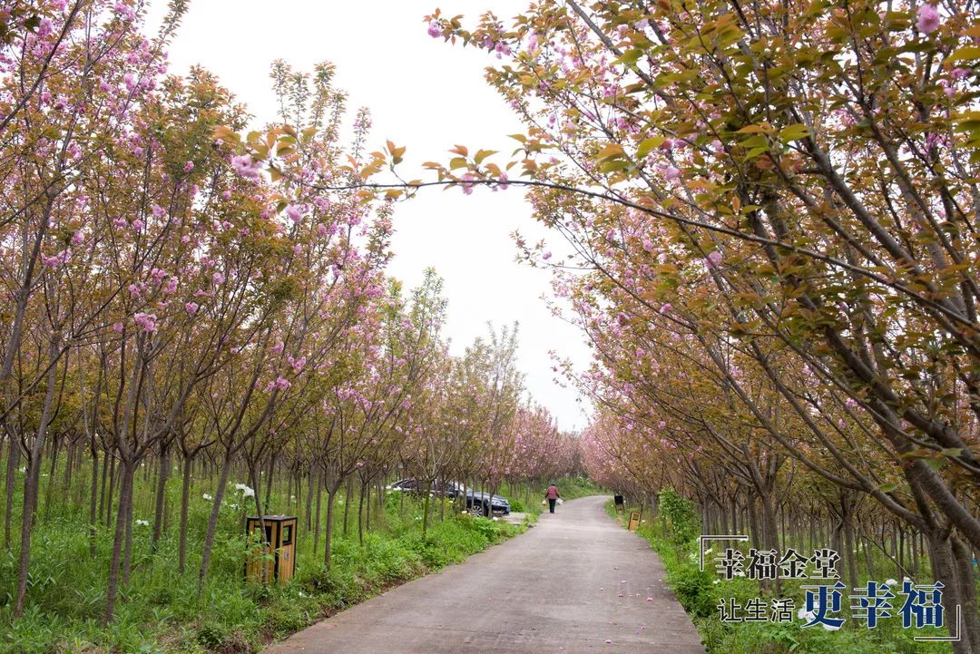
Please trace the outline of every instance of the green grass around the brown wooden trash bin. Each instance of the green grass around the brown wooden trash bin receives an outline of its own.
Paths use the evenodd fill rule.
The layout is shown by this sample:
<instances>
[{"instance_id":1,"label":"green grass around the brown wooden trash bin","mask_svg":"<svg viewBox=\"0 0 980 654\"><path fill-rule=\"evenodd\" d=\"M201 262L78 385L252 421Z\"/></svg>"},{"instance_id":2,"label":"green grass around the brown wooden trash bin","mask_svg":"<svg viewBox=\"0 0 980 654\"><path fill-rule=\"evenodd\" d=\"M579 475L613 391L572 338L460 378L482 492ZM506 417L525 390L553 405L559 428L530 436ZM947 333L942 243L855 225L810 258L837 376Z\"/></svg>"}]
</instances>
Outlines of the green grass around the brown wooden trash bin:
<instances>
[{"instance_id":1,"label":"green grass around the brown wooden trash bin","mask_svg":"<svg viewBox=\"0 0 980 654\"><path fill-rule=\"evenodd\" d=\"M73 484L77 488L67 496L81 497L85 484L79 475ZM137 482L137 519L152 517L149 486ZM11 614L16 551L0 554L0 654L250 654L392 585L463 561L522 529L462 515L447 506L445 520L433 520L423 538L420 501L393 493L384 510L371 516L372 529L362 545L356 510L351 512L348 537L342 536L341 503L329 573L323 568L322 546L315 556L313 535L301 517L296 577L291 584L267 586L243 580L246 509L236 505L231 489L221 509L211 573L201 594L197 592L197 570L211 508L211 502L203 498L203 492L209 491L207 485L195 486L192 495L188 566L183 575L176 573L175 525L155 551L151 528L134 525L132 579L123 588L117 620L109 626L100 618L111 530L100 528L96 556L90 558L87 512L70 499L64 504L42 504L33 533L27 609L16 621ZM168 488L171 506L178 501L178 493L178 480L172 480ZM270 513L286 509L281 500L273 497ZM237 502L243 503L240 495ZM438 515L437 510L433 513Z\"/></svg>"}]
</instances>

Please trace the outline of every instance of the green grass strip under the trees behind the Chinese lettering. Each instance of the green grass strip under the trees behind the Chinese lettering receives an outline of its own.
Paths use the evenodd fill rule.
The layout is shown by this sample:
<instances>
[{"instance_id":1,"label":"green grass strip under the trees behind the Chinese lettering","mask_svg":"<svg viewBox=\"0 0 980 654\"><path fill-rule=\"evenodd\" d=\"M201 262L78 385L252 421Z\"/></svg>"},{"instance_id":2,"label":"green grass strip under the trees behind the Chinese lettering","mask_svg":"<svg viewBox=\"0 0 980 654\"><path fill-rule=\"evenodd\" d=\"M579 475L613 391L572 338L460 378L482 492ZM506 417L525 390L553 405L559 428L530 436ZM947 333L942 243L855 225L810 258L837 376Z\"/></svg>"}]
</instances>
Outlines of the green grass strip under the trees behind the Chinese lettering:
<instances>
[{"instance_id":1,"label":"green grass strip under the trees behind the Chinese lettering","mask_svg":"<svg viewBox=\"0 0 980 654\"><path fill-rule=\"evenodd\" d=\"M628 510L626 515L617 514L610 501L607 511L625 527ZM744 606L752 598L761 597L768 602L769 597L756 581L739 578L727 581L708 565L704 572L700 571L697 538L674 537L662 520L644 522L638 534L660 555L666 582L701 634L709 654L945 654L953 651L949 643L912 640L916 635L946 635L945 630L904 630L897 618L883 620L874 630L858 626L851 618L847 597L842 601L840 615L848 620L841 630L802 629L804 623L797 617L797 610L804 606L805 591L799 586L808 582L803 580L785 583L787 587L779 594L794 599L794 622L722 623L717 609L719 602L734 597L736 604ZM866 577L859 579L861 583L868 581ZM892 603L895 605L896 600Z\"/></svg>"}]
</instances>

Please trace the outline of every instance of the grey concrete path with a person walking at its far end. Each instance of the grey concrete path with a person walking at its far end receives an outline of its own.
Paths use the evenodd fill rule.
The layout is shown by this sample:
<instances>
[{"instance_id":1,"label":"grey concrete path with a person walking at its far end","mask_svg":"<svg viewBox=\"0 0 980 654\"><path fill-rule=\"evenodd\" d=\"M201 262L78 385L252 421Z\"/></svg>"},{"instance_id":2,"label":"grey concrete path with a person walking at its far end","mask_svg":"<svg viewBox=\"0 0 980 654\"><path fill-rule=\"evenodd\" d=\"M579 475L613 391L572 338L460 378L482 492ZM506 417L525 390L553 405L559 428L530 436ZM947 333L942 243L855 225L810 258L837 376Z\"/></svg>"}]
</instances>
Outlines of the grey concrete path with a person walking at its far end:
<instances>
[{"instance_id":1,"label":"grey concrete path with a person walking at its far end","mask_svg":"<svg viewBox=\"0 0 980 654\"><path fill-rule=\"evenodd\" d=\"M660 559L606 515L607 499L565 502L526 534L264 654L705 654Z\"/></svg>"}]
</instances>

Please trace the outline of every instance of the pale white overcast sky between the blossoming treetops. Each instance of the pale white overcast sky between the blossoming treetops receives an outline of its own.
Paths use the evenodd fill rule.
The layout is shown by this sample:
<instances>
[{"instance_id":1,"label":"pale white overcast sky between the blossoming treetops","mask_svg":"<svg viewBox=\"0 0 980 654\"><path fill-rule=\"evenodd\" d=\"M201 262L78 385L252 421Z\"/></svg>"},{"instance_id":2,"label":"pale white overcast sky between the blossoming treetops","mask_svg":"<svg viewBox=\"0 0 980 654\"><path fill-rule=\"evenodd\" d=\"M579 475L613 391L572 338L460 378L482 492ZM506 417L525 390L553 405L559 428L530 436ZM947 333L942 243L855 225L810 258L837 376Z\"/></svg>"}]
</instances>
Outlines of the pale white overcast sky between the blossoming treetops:
<instances>
[{"instance_id":1,"label":"pale white overcast sky between the blossoming treetops","mask_svg":"<svg viewBox=\"0 0 980 654\"><path fill-rule=\"evenodd\" d=\"M248 105L259 124L275 116L269 70L283 59L296 70L317 62L337 67L336 86L349 97L349 113L367 106L373 129L368 140L379 149L386 139L408 146L402 164L407 179L423 177L419 164L447 161L454 144L510 153L522 131L506 103L483 79L492 63L486 53L446 44L425 33L422 17L439 0L191 0L170 51L171 71L201 64ZM492 9L515 16L525 0L442 0L444 13L474 20ZM165 0L150 0L148 29L155 30ZM487 333L486 323L520 322L519 361L530 393L547 406L562 429L584 427L582 405L571 389L554 383L549 350L582 368L589 359L582 336L551 315L542 295L550 295L548 273L515 262L511 232L529 243L548 236L530 217L514 188L493 193L476 189L421 192L398 206L395 258L389 273L414 287L433 266L446 280L449 320L446 335L454 353Z\"/></svg>"}]
</instances>

